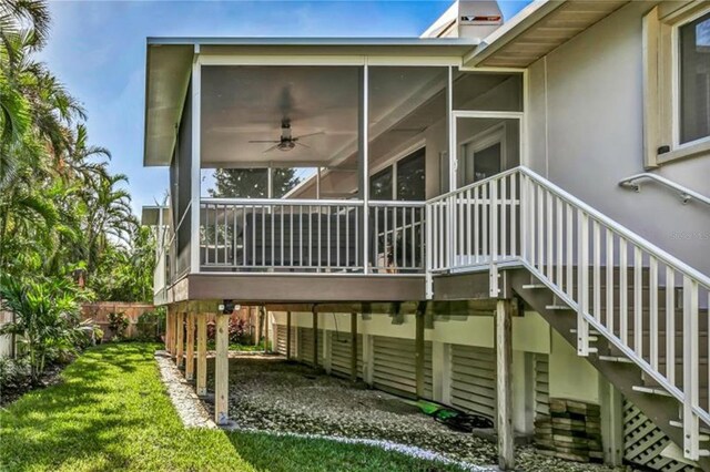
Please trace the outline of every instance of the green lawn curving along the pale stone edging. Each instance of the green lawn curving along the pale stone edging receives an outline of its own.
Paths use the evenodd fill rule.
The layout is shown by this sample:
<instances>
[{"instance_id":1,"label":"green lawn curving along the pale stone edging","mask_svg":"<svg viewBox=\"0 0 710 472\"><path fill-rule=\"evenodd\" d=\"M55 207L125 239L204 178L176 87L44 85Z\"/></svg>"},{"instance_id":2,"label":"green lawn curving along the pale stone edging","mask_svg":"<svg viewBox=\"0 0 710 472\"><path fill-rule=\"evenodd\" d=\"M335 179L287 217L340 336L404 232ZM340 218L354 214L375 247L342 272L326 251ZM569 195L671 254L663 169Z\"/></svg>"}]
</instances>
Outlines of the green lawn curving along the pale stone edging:
<instances>
[{"instance_id":1,"label":"green lawn curving along the pale stone edging","mask_svg":"<svg viewBox=\"0 0 710 472\"><path fill-rule=\"evenodd\" d=\"M459 470L369 445L185 429L160 381L155 348L92 348L67 368L63 383L0 411L0 470Z\"/></svg>"}]
</instances>

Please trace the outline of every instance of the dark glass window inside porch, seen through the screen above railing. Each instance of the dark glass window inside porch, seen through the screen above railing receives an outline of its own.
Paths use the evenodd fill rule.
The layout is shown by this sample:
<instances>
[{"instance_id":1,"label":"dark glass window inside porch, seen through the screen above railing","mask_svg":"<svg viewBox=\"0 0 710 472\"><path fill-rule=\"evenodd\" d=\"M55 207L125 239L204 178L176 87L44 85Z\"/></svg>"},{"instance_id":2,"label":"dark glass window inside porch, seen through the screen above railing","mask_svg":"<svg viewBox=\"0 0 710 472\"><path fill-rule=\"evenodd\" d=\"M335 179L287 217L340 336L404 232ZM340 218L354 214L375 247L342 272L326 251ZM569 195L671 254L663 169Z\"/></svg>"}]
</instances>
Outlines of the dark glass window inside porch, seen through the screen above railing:
<instances>
[{"instance_id":1,"label":"dark glass window inside porch, seen through the screen above railing","mask_svg":"<svg viewBox=\"0 0 710 472\"><path fill-rule=\"evenodd\" d=\"M400 158L369 177L369 198L424 201L426 198L425 148Z\"/></svg>"}]
</instances>

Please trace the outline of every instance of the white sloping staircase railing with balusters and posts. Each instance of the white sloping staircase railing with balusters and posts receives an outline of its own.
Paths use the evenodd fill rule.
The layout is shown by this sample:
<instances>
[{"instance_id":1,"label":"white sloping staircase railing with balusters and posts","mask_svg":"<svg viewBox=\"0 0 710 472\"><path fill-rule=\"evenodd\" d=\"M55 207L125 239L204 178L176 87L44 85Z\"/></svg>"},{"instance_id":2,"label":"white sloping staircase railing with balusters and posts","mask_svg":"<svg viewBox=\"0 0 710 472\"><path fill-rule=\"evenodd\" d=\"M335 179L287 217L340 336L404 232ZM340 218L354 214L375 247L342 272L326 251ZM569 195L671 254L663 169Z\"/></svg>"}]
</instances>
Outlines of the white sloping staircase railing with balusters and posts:
<instances>
[{"instance_id":1,"label":"white sloping staircase railing with balusters and posts","mask_svg":"<svg viewBox=\"0 0 710 472\"><path fill-rule=\"evenodd\" d=\"M598 332L605 336L609 342L616 346L618 349L623 352L629 359L631 359L642 371L645 371L650 378L657 381L662 389L665 389L671 397L676 398L680 404L682 406L682 428L683 428L683 455L690 460L698 460L701 455L708 455L710 452L704 449L700 449L700 429L699 429L699 420L702 420L706 424L710 424L710 411L707 409L707 404L700 404L700 380L699 380L699 340L698 340L698 329L699 329L699 301L700 301L700 291L699 288L702 287L704 290L704 296L710 294L710 277L698 271L697 269L690 267L686 263L681 261L677 257L668 254L663 249L653 245L652 243L640 237L636 233L627 229L625 226L604 215L599 211L592 208L586 203L581 202L579 198L552 184L548 179L539 176L534 171L529 168L520 168L520 173L524 177L521 181L526 184L526 195L528 194L529 187L535 192L535 186L538 188L542 188L542 192L547 192L548 195L552 195L556 198L559 198L561 202L566 202L569 208L575 208L577 212L577 222L579 224L579 232L582 232L582 227L585 228L582 233L577 234L577 245L578 245L578 254L577 254L577 277L578 285L577 290L567 290L564 289L562 283L556 283L555 276L549 274L549 268L546 273L540 261L538 261L538 267L535 267L535 252L532 250L532 258L528 259L528 253L524 252L523 263L528 266L528 269L536 274L538 278L540 278L545 284L561 299L567 302L571 309L577 311L577 352L579 356L588 356L589 352L594 352L595 349L590 348L589 342L591 337L589 335L590 327L595 328ZM538 191L539 195L539 191ZM548 197L546 197L547 199ZM539 205L539 203L538 203ZM527 205L524 205L527 207ZM549 217L549 215L546 215ZM535 219L535 213L530 214L532 217L534 224L540 225L545 219L542 216L539 220ZM628 320L623 321L626 318L619 318L620 322L623 322L626 327L620 328L620 332L617 336L612 325L609 327L609 314L607 314L606 322L602 322L601 311L599 309L600 299L596 298L594 302L594 310L590 305L590 296L589 290L595 289L595 297L600 297L600 291L597 288L598 286L595 284L599 283L599 259L596 256L594 261L594 266L590 264L590 230L589 223L594 222L592 227L596 228L595 232L595 254L598 254L600 247L600 238L599 238L599 228L604 227L607 233L607 240L609 238L609 232L611 234L616 234L619 238L625 240L625 258L626 256L626 247L630 244L633 249L633 322L631 329L629 331ZM596 226L594 226L596 225ZM549 223L546 224L549 227ZM528 236L529 237L529 236ZM534 237L534 236L532 236ZM612 236L613 237L613 236ZM613 239L611 239L613 240ZM538 246L539 247L539 246ZM605 246L606 247L606 246ZM621 246L619 246L621 248ZM608 252L608 248L606 249ZM538 249L539 252L539 249ZM670 325L672 330L670 332L666 332L667 338L674 337L677 332L680 332L682 336L682 387L677 384L676 374L672 373L672 370L669 372L668 368L661 370L659 368L659 326L658 326L658 298L656 297L656 306L651 308L652 311L656 312L649 320L649 329L650 329L650 355L649 359L646 359L646 355L642 353L643 350L643 340L642 340L642 330L637 325L641 322L640 317L640 307L642 305L640 291L637 289L637 284L643 285L641 283L641 276L638 271L638 265L641 264L641 267L646 267L643 264L643 253L649 256L649 270L651 271L651 279L649 283L651 284L652 290L658 290L658 261L661 261L667 266L667 274L672 274L673 278L676 276L681 276L682 278L682 287L683 287L683 308L682 308L682 328L680 331L677 331L673 327L674 324ZM549 256L548 256L549 257ZM607 256L608 257L608 256ZM612 264L611 259L611 264ZM628 267L627 261L620 264L621 268ZM548 263L549 264L549 263ZM569 264L569 263L567 263ZM607 259L607 264L605 266L609 267L609 259ZM548 266L549 267L549 266ZM595 276L595 283L590 283L589 280L589 270L594 269L597 274ZM569 268L568 268L569 270ZM620 274L620 277L626 277L626 271ZM607 276L608 277L608 276ZM638 283L636 281L636 277L638 278ZM655 280L655 281L653 281ZM569 286L569 284L567 284ZM608 287L608 285L607 285ZM619 289L619 293L622 294L627 290L627 283L623 283L623 286ZM613 296L612 296L613 297ZM638 299L636 297L639 297ZM637 301L638 300L638 301ZM608 301L607 301L608 302ZM668 302L668 301L667 301ZM626 304L626 301L621 301L621 304ZM638 304L638 305L637 305ZM639 310L639 311L637 311ZM626 317L627 314L622 312L621 316ZM655 318L653 318L655 317ZM667 315L667 318L669 315ZM672 319L674 317L670 316ZM653 325L653 322L656 325ZM668 321L667 321L668 322ZM631 339L629 338L629 334L631 335ZM655 338L653 338L655 337ZM656 345L653 345L653 342ZM672 346L672 345L671 345ZM672 365L673 359L676 359L677 350L674 347L671 348L670 355L666 352L666 356L670 356L667 358L667 366Z\"/></svg>"}]
</instances>

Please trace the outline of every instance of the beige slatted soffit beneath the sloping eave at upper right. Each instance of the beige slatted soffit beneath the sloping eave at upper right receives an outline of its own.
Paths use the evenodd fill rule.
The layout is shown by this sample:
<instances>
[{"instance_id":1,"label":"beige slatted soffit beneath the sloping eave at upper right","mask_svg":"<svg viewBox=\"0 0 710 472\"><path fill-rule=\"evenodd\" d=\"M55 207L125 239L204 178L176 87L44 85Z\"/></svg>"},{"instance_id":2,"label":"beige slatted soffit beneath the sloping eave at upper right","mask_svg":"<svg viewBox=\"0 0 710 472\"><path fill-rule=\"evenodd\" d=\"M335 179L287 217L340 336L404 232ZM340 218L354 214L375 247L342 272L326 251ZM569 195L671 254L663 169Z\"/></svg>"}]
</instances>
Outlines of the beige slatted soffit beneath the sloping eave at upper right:
<instances>
[{"instance_id":1,"label":"beige slatted soffit beneath the sloping eave at upper right","mask_svg":"<svg viewBox=\"0 0 710 472\"><path fill-rule=\"evenodd\" d=\"M469 66L527 68L630 0L532 2L464 58Z\"/></svg>"}]
</instances>

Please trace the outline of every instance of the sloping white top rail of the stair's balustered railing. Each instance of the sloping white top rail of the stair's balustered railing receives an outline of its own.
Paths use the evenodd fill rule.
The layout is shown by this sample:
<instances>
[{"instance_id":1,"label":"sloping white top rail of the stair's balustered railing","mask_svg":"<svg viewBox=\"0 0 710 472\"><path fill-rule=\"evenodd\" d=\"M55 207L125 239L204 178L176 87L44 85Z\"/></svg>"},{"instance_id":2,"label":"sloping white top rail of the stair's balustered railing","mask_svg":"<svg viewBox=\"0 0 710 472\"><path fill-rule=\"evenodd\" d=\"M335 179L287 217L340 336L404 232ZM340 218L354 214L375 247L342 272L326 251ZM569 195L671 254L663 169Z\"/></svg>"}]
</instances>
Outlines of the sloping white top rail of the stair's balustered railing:
<instances>
[{"instance_id":1,"label":"sloping white top rail of the stair's balustered railing","mask_svg":"<svg viewBox=\"0 0 710 472\"><path fill-rule=\"evenodd\" d=\"M707 275L702 274L701 271L699 271L698 269L689 266L688 264L683 263L682 260L680 260L676 256L673 256L673 255L667 253L666 250L661 249L660 247L656 246L653 243L642 238L638 234L636 234L632 230L628 229L626 226L621 225L620 223L617 223L616 220L611 219L610 217L608 217L604 213L599 212L598 209L589 206L585 202L582 202L579 198L577 198L576 196L571 195L569 192L565 191L564 188L557 186L552 182L550 182L547 178L542 177L541 175L537 174L535 171L532 171L532 170L530 170L528 167L525 167L525 166L518 166L516 168L518 168L521 174L527 175L528 177L530 177L534 181L536 181L538 184L547 187L550 192L554 192L555 194L557 194L557 196L559 196L565 202L567 202L567 203L569 203L569 204L571 204L574 206L577 206L579 209L584 211L589 216L591 216L595 219L597 219L599 223L601 223L601 224L604 224L606 226L609 226L618 235L623 236L629 242L632 242L632 243L637 244L638 246L641 247L641 249L646 250L647 253L653 254L653 257L656 257L659 260L662 260L666 265L669 265L669 266L673 267L678 271L686 273L686 275L688 275L689 277L694 278L699 284L704 285L706 287L710 288L710 277L709 276L707 276Z\"/></svg>"}]
</instances>

